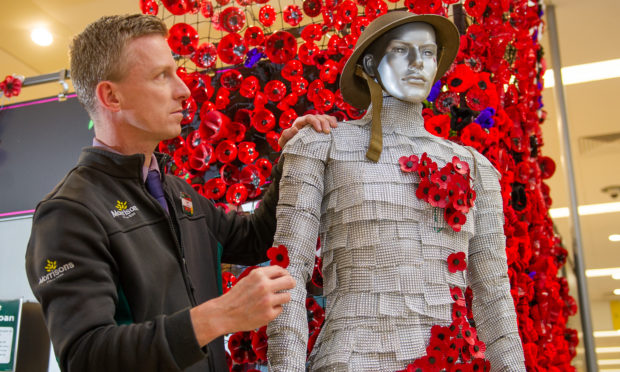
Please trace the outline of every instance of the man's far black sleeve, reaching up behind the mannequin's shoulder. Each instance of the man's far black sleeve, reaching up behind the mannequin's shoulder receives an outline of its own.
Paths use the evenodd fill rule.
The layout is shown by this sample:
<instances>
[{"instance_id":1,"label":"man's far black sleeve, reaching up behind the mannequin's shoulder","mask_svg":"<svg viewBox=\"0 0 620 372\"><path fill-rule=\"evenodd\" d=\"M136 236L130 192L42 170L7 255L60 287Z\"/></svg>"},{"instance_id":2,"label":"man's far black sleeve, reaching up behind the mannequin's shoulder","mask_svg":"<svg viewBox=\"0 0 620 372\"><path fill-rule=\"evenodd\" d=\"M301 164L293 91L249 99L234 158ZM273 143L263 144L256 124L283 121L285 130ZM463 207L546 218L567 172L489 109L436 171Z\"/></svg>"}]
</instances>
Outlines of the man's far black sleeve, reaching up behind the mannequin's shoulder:
<instances>
[{"instance_id":1,"label":"man's far black sleeve, reaching up behind the mannequin's shoulder","mask_svg":"<svg viewBox=\"0 0 620 372\"><path fill-rule=\"evenodd\" d=\"M222 245L222 262L256 265L267 260L267 249L272 246L276 230L276 205L282 159L273 167L269 185L258 208L250 215L235 211L225 213L210 203L214 218L211 220L216 240Z\"/></svg>"}]
</instances>

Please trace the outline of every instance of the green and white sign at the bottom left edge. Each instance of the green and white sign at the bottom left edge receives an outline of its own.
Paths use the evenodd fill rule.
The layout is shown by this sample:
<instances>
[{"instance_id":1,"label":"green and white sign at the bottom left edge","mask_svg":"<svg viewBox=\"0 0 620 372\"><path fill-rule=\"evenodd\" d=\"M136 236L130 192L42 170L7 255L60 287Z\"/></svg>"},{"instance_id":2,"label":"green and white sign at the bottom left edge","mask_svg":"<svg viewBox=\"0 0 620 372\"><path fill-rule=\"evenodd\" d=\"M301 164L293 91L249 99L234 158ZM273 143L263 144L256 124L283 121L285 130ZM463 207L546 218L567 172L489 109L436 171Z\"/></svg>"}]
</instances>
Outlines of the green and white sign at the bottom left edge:
<instances>
[{"instance_id":1,"label":"green and white sign at the bottom left edge","mask_svg":"<svg viewBox=\"0 0 620 372\"><path fill-rule=\"evenodd\" d=\"M22 300L0 300L0 371L15 371Z\"/></svg>"}]
</instances>

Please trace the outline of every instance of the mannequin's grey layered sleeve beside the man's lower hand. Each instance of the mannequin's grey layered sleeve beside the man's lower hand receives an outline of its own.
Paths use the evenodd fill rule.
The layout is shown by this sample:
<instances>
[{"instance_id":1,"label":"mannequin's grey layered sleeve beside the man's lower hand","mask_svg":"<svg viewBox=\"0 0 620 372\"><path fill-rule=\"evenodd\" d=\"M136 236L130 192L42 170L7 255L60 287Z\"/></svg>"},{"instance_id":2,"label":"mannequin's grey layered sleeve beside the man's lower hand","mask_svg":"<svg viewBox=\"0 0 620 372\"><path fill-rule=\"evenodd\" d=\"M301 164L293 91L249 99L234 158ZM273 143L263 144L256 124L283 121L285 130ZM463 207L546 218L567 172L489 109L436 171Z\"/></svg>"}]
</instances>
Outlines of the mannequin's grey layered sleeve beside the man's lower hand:
<instances>
[{"instance_id":1,"label":"mannequin's grey layered sleeve beside the man's lower hand","mask_svg":"<svg viewBox=\"0 0 620 372\"><path fill-rule=\"evenodd\" d=\"M312 275L319 234L324 172L330 136L298 134L284 149L280 181L278 227L275 245L288 249L287 270L296 281L291 301L267 327L268 359L271 371L303 372L306 365L308 321L306 282Z\"/></svg>"}]
</instances>

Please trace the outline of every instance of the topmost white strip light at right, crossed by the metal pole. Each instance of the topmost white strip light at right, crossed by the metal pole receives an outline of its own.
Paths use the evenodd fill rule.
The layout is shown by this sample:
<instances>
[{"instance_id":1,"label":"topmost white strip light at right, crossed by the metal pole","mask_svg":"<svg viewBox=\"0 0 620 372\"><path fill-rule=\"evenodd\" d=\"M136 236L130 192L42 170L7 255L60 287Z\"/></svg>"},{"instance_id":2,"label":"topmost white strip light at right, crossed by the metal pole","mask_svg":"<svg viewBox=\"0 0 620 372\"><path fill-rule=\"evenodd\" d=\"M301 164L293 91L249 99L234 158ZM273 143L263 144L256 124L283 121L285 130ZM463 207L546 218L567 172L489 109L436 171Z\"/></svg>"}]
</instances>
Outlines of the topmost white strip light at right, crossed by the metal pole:
<instances>
[{"instance_id":1,"label":"topmost white strip light at right, crossed by the metal pole","mask_svg":"<svg viewBox=\"0 0 620 372\"><path fill-rule=\"evenodd\" d=\"M610 59L607 61L562 67L562 82L564 85L587 83L590 81L613 79L617 77L620 77L620 59ZM555 86L553 70L547 70L543 78L545 80L545 88Z\"/></svg>"}]
</instances>

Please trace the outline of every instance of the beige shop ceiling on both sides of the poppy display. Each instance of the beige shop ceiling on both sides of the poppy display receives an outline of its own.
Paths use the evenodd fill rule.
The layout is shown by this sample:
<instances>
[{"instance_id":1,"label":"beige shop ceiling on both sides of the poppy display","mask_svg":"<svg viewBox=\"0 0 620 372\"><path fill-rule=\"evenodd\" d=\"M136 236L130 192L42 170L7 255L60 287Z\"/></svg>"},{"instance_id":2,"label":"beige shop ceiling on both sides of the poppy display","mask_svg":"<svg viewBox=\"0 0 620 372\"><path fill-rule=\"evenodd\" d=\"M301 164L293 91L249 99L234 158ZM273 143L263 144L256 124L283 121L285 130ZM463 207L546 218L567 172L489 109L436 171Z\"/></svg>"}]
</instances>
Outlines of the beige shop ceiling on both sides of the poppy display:
<instances>
[{"instance_id":1,"label":"beige shop ceiling on both sides of the poppy display","mask_svg":"<svg viewBox=\"0 0 620 372\"><path fill-rule=\"evenodd\" d=\"M30 77L68 69L67 46L72 35L102 15L138 12L138 4L138 0L3 0L0 5L0 34L3 35L0 39L0 78L14 73ZM547 4L554 4L556 8L563 66L620 58L620 37L613 31L620 14L620 1L553 0ZM51 46L39 47L32 43L29 34L35 26L47 26L51 30L55 39ZM547 66L551 68L553 61L548 32L544 37ZM0 105L56 96L60 91L61 86L55 83L26 87L19 97L0 98ZM580 205L620 201L620 197L614 199L601 191L610 185L620 185L620 140L612 141L611 136L607 142L590 141L590 146L586 146L583 140L585 137L620 133L620 127L614 124L619 91L620 79L565 87ZM543 125L545 145L542 152L555 159L558 165L555 175L548 180L553 208L558 208L568 207L569 197L554 93L554 88L544 90L548 116ZM620 234L620 213L582 216L580 221L586 268L620 267L620 242L608 240L610 234ZM564 244L572 251L570 219L558 218L555 222ZM570 265L568 268L571 269ZM613 289L620 288L620 281L602 277L590 278L587 283L594 330L612 329L609 301L620 300L612 294ZM572 287L574 291L576 286L573 284ZM573 322L578 319L574 318ZM578 324L574 326L578 327ZM620 346L620 337L597 338L596 343L597 347ZM620 353L599 354L599 357L620 359ZM620 364L615 368L620 368Z\"/></svg>"}]
</instances>

